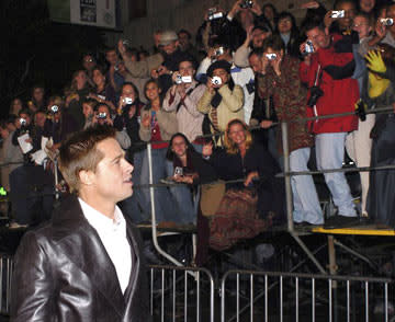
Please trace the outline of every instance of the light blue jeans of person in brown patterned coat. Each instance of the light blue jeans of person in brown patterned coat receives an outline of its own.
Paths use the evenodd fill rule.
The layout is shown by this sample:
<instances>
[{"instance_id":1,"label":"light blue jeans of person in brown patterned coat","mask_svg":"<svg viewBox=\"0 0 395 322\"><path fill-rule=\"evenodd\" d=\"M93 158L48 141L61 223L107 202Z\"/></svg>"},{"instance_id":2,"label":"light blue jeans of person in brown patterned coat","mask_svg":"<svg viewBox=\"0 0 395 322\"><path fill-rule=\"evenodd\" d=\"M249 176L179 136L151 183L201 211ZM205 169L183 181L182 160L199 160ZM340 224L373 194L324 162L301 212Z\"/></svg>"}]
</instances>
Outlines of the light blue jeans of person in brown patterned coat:
<instances>
[{"instance_id":1,"label":"light blue jeans of person in brown patterned coat","mask_svg":"<svg viewBox=\"0 0 395 322\"><path fill-rule=\"evenodd\" d=\"M302 148L291 152L291 171L308 171L307 162L311 148ZM312 175L291 176L293 194L293 219L295 222L307 221L313 225L324 223L323 210Z\"/></svg>"}]
</instances>

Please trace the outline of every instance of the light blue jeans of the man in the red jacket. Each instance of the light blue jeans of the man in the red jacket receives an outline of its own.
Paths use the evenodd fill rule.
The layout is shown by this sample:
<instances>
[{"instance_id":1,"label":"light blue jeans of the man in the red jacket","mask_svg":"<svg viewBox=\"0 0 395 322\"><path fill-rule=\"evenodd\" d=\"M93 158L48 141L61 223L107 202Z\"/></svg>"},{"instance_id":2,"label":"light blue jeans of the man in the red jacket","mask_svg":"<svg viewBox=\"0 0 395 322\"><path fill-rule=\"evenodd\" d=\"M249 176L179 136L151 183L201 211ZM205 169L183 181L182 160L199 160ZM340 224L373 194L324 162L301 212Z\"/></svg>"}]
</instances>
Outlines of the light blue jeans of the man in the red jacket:
<instances>
[{"instance_id":1,"label":"light blue jeans of the man in the red jacket","mask_svg":"<svg viewBox=\"0 0 395 322\"><path fill-rule=\"evenodd\" d=\"M315 137L318 170L341 169L345 160L345 141L347 133L326 133ZM343 172L325 173L325 182L338 207L338 214L356 217L350 187Z\"/></svg>"}]
</instances>

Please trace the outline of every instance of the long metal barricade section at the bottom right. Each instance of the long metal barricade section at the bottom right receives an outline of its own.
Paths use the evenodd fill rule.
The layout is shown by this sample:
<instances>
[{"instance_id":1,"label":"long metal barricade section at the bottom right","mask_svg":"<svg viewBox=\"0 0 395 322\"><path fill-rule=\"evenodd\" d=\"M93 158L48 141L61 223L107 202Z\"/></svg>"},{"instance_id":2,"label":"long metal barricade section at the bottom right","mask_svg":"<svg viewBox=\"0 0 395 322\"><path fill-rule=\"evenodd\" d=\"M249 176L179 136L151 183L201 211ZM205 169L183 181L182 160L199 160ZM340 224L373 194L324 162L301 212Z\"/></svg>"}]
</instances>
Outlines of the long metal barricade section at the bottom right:
<instances>
[{"instance_id":1,"label":"long metal barricade section at the bottom right","mask_svg":"<svg viewBox=\"0 0 395 322\"><path fill-rule=\"evenodd\" d=\"M388 322L395 319L393 289L388 278L229 271L221 321Z\"/></svg>"}]
</instances>

